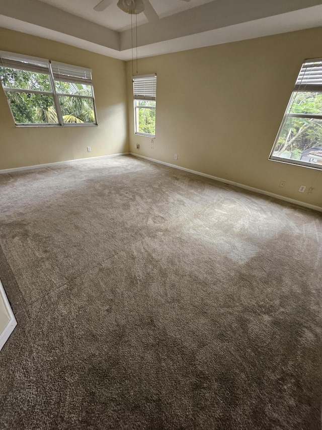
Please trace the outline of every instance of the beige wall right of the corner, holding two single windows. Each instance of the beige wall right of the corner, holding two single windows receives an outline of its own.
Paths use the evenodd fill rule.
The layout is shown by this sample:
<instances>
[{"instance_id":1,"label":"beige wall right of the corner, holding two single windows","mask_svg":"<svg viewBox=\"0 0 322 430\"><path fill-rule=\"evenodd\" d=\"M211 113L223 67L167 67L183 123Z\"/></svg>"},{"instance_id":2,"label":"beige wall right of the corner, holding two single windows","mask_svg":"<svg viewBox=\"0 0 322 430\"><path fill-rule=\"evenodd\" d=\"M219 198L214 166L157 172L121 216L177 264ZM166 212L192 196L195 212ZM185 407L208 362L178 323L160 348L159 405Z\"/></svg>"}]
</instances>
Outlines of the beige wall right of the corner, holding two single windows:
<instances>
[{"instance_id":1,"label":"beige wall right of the corner, holding two single windows","mask_svg":"<svg viewBox=\"0 0 322 430\"><path fill-rule=\"evenodd\" d=\"M130 151L322 207L322 171L268 161L303 59L322 56L321 39L317 28L139 59L138 74L157 73L153 145L134 135L127 62Z\"/></svg>"}]
</instances>

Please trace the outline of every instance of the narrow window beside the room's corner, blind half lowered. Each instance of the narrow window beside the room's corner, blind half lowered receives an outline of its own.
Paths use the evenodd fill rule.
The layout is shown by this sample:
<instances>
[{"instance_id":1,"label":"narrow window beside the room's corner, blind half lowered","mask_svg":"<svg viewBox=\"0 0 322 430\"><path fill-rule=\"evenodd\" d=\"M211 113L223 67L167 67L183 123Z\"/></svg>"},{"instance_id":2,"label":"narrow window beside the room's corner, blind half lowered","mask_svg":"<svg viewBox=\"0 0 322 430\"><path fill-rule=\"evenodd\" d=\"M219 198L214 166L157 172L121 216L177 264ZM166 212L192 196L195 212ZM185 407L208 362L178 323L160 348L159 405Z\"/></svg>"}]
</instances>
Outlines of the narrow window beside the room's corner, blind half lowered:
<instances>
[{"instance_id":1,"label":"narrow window beside the room's corner, blind half lowered","mask_svg":"<svg viewBox=\"0 0 322 430\"><path fill-rule=\"evenodd\" d=\"M155 137L156 75L133 76L135 134Z\"/></svg>"}]
</instances>

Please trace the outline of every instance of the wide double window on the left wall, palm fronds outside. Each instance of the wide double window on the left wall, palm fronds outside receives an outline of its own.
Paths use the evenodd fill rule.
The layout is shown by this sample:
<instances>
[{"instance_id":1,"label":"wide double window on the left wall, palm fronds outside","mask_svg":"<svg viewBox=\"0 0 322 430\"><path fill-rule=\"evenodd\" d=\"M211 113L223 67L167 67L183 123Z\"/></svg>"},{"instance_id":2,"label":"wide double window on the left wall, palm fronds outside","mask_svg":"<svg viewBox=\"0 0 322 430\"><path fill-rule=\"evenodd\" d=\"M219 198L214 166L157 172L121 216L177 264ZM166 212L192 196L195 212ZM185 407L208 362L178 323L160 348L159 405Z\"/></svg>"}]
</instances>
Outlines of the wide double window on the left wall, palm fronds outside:
<instances>
[{"instance_id":1,"label":"wide double window on the left wall, palm fronds outside","mask_svg":"<svg viewBox=\"0 0 322 430\"><path fill-rule=\"evenodd\" d=\"M0 51L0 81L16 126L97 125L90 69Z\"/></svg>"}]
</instances>

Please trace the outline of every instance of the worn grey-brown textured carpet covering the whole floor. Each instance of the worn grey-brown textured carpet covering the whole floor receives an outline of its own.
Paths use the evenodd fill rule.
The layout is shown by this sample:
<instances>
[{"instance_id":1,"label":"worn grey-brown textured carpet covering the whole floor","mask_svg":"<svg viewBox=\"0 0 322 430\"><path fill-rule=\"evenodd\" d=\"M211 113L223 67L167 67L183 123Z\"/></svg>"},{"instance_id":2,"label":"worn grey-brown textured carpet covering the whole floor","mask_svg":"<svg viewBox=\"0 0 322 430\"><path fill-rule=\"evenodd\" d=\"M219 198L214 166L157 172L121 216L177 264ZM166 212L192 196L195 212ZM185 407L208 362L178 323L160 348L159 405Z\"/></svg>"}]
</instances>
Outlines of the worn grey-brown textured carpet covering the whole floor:
<instances>
[{"instance_id":1,"label":"worn grey-brown textured carpet covering the whole floor","mask_svg":"<svg viewBox=\"0 0 322 430\"><path fill-rule=\"evenodd\" d=\"M1 429L320 430L320 214L130 156L0 198Z\"/></svg>"}]
</instances>

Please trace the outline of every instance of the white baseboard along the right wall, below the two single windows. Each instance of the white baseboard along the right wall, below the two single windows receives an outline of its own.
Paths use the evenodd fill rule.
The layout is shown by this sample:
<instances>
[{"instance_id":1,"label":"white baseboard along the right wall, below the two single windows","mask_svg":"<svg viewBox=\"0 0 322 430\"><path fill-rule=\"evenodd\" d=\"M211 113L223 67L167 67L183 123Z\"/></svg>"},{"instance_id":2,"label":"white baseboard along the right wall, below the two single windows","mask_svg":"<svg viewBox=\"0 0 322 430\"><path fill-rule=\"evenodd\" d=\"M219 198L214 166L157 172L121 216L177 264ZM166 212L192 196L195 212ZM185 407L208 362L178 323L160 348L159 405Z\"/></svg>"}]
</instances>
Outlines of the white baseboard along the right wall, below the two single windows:
<instances>
[{"instance_id":1,"label":"white baseboard along the right wall, below the two single windows","mask_svg":"<svg viewBox=\"0 0 322 430\"><path fill-rule=\"evenodd\" d=\"M184 170L185 172L194 173L199 176L209 177L210 179L218 180L219 182L224 182L234 187L243 188L244 190L253 191L254 193L264 194L265 196L274 197L274 199L283 200L284 202L293 203L294 205L302 206L304 208L313 209L314 211L322 212L322 208L319 206L311 205L309 203L299 202L295 199L289 199L288 197L280 196L279 194L270 193L269 191L260 190L258 188L249 187L243 183L233 182L232 180L223 179L221 177L208 175L206 173L197 172L196 170L187 169L185 167L177 166L176 164L166 163L165 161L155 160L154 158L144 157L143 155L135 154L130 152L130 155L134 157L144 158L145 160L153 161L154 163L164 164L165 166L174 167L175 169Z\"/></svg>"}]
</instances>

